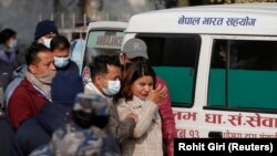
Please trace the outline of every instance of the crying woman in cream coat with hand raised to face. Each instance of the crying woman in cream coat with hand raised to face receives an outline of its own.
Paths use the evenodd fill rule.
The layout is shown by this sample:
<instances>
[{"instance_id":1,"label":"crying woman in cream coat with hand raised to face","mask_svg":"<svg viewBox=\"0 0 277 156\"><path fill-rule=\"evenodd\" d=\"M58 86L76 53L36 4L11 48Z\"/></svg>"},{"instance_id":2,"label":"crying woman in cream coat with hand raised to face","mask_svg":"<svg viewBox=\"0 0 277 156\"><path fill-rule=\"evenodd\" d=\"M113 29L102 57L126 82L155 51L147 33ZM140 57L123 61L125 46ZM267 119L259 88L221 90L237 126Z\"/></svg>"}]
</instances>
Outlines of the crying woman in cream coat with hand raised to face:
<instances>
[{"instance_id":1,"label":"crying woman in cream coat with hand raised to face","mask_svg":"<svg viewBox=\"0 0 277 156\"><path fill-rule=\"evenodd\" d=\"M155 72L146 61L132 63L123 73L122 89L115 96L120 119L130 113L138 118L133 137L122 144L123 156L162 156L162 124L158 102L166 89L155 86Z\"/></svg>"}]
</instances>

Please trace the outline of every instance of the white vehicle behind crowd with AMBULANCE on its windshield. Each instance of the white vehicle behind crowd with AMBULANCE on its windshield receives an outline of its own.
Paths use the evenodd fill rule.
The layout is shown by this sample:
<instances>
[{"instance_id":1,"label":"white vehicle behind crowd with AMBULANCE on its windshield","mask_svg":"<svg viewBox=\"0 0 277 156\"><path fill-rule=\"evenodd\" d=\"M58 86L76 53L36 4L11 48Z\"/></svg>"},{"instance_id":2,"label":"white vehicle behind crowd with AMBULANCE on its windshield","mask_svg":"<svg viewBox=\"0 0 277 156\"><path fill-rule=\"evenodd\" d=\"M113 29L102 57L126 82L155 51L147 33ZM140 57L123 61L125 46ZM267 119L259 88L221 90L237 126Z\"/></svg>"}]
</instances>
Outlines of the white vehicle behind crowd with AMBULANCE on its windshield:
<instances>
[{"instance_id":1,"label":"white vehicle behind crowd with AMBULANCE on its windshield","mask_svg":"<svg viewBox=\"0 0 277 156\"><path fill-rule=\"evenodd\" d=\"M126 22L120 21L96 21L89 24L81 65L84 83L90 79L89 64L95 55L119 54L126 27Z\"/></svg>"}]
</instances>

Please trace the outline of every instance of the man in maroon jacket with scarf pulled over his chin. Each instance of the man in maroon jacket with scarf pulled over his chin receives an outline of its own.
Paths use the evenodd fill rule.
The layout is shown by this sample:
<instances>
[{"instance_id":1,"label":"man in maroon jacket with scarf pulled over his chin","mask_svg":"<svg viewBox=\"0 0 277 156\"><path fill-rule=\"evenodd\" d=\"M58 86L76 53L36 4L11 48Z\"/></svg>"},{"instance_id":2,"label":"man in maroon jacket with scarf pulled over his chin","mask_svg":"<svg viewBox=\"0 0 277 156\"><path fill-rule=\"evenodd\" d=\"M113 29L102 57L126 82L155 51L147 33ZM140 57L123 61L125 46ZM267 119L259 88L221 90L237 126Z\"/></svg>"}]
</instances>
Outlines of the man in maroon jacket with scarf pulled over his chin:
<instances>
[{"instance_id":1,"label":"man in maroon jacket with scarf pulled over his chin","mask_svg":"<svg viewBox=\"0 0 277 156\"><path fill-rule=\"evenodd\" d=\"M44 44L33 43L25 61L25 77L16 87L8 104L8 117L14 129L37 114L41 106L52 102L50 91L55 75L53 53Z\"/></svg>"}]
</instances>

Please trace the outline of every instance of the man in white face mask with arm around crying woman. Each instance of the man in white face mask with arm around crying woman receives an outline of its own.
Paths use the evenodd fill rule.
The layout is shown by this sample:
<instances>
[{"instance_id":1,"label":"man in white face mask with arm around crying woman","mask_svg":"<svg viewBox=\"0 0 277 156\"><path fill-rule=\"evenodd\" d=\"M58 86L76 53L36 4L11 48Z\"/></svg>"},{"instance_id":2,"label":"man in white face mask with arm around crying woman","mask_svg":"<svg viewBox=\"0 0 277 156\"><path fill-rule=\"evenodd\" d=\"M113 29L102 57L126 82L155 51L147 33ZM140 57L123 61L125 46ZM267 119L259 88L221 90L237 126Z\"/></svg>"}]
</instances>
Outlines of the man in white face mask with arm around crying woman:
<instances>
[{"instance_id":1,"label":"man in white face mask with arm around crying woman","mask_svg":"<svg viewBox=\"0 0 277 156\"><path fill-rule=\"evenodd\" d=\"M84 93L98 94L112 103L112 97L121 89L121 63L117 55L98 55L90 64L91 80L84 85ZM116 119L117 118L117 119ZM119 114L111 104L109 128L119 144L133 134L137 115L130 113L125 119L119 121ZM111 125L112 124L112 125Z\"/></svg>"}]
</instances>

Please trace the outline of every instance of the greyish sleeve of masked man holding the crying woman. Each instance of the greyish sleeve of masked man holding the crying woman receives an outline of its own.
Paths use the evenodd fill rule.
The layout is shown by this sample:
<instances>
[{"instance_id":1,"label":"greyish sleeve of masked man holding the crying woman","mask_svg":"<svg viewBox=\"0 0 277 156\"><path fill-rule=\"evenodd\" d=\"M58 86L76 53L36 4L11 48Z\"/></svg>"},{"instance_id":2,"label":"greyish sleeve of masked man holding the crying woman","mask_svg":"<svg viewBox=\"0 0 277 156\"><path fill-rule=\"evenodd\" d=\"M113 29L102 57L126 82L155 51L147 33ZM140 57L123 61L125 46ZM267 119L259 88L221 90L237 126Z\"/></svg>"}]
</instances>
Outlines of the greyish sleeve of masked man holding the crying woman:
<instances>
[{"instance_id":1,"label":"greyish sleeve of masked man holding the crying woman","mask_svg":"<svg viewBox=\"0 0 277 156\"><path fill-rule=\"evenodd\" d=\"M133 118L125 118L124 121L120 121L114 104L111 106L110 115L109 131L111 131L116 142L121 145L122 142L133 135L135 121Z\"/></svg>"}]
</instances>

